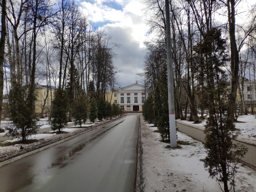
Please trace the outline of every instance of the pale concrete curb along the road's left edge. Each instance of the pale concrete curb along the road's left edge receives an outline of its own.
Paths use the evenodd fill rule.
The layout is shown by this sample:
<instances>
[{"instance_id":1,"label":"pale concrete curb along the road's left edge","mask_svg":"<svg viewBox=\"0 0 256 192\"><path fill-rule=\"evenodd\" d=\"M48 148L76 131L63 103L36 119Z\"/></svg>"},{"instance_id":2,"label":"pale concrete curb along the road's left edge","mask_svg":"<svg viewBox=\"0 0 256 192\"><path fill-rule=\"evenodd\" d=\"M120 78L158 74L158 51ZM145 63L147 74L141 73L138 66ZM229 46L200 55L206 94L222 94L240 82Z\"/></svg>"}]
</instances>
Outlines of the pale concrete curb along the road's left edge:
<instances>
[{"instance_id":1,"label":"pale concrete curb along the road's left edge","mask_svg":"<svg viewBox=\"0 0 256 192\"><path fill-rule=\"evenodd\" d=\"M37 153L37 152L39 152L39 151L43 151L43 150L45 150L45 149L48 149L48 148L50 148L50 147L52 147L52 146L55 146L55 145L57 145L57 144L61 144L61 143L65 142L65 141L68 141L68 140L70 140L70 139L73 139L73 138L75 138L75 137L77 137L77 136L80 136L80 135L83 135L83 134L88 133L88 132L90 132L90 131L93 131L93 130L96 129L96 128L101 128L101 127L107 125L108 123L111 123L111 122L113 122L113 121L115 121L115 120L117 120L117 119L120 119L120 118L122 118L122 117L124 117L124 116L121 116L121 117L116 118L116 119L114 119L114 120L112 120L112 121L106 122L106 123L104 123L104 124L102 124L102 125L98 125L98 126L96 126L96 127L92 127L91 129L88 129L88 130L86 130L86 131L84 131L84 132L82 132L82 133L78 133L78 134L76 134L76 135L73 135L73 136L71 136L71 137L68 137L68 138L65 138L65 139L63 139L63 140L57 141L57 142L55 142L55 143L52 143L52 144L43 146L43 147L38 148L38 149L35 149L35 150L33 150L33 151L29 151L29 152L27 152L27 153L21 154L21 155L16 156L16 157L13 157L13 158L8 159L8 160L6 160L6 161L2 161L2 162L0 162L0 167L2 167L2 166L4 166L4 165L7 165L7 164L9 164L9 163L15 162L15 161L17 161L17 160L19 160L19 159L22 159L22 158L24 158L24 157L27 157L27 156L29 156L29 155L33 155L33 154L35 154L35 153Z\"/></svg>"}]
</instances>

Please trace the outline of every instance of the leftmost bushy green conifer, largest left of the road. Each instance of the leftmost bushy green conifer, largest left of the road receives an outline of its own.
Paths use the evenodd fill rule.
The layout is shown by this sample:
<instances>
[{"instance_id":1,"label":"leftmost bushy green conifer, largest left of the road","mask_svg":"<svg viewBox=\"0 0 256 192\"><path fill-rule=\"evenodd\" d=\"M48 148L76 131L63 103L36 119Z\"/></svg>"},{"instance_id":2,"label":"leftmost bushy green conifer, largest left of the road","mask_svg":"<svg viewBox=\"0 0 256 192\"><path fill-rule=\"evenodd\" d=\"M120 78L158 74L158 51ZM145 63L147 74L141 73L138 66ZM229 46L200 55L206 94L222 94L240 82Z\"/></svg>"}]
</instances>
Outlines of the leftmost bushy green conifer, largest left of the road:
<instances>
[{"instance_id":1,"label":"leftmost bushy green conifer, largest left of the road","mask_svg":"<svg viewBox=\"0 0 256 192\"><path fill-rule=\"evenodd\" d=\"M32 98L29 99L28 95ZM6 135L16 137L24 143L31 135L37 133L39 126L35 114L35 101L36 95L29 92L28 86L22 87L14 82L9 94L9 109L14 125L7 128Z\"/></svg>"}]
</instances>

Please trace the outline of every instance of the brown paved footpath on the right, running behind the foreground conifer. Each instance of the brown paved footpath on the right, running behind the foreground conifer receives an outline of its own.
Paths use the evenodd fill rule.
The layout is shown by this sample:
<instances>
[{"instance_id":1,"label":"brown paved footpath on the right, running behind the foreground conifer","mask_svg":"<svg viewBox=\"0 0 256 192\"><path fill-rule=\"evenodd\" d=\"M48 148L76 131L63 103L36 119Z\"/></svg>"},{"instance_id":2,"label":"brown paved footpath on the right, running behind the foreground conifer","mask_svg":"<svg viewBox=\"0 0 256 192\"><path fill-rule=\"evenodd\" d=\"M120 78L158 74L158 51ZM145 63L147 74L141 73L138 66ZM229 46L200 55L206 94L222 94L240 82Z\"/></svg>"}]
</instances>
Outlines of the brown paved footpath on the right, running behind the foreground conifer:
<instances>
[{"instance_id":1,"label":"brown paved footpath on the right, running behind the foreground conifer","mask_svg":"<svg viewBox=\"0 0 256 192\"><path fill-rule=\"evenodd\" d=\"M205 134L203 130L194 128L192 126L184 125L179 121L176 121L176 123L180 132L185 133L186 135L204 143ZM239 143L238 141L234 141L234 142ZM248 152L245 154L244 158L242 158L241 160L253 166L254 168L256 168L256 161L255 161L256 146L245 144L245 143L242 143L242 144L244 144L248 148Z\"/></svg>"}]
</instances>

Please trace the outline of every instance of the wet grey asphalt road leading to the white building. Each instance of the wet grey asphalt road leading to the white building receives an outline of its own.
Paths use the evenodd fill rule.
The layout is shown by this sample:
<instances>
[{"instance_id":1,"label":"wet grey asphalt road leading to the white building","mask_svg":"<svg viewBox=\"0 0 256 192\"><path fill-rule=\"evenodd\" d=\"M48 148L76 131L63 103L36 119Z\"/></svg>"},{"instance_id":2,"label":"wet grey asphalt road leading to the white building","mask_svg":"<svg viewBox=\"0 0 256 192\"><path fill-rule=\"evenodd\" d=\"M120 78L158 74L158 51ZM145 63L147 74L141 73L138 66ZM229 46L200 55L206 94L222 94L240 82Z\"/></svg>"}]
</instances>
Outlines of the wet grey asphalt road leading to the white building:
<instances>
[{"instance_id":1,"label":"wet grey asphalt road leading to the white building","mask_svg":"<svg viewBox=\"0 0 256 192\"><path fill-rule=\"evenodd\" d=\"M133 191L139 115L127 115L0 168L0 191Z\"/></svg>"}]
</instances>

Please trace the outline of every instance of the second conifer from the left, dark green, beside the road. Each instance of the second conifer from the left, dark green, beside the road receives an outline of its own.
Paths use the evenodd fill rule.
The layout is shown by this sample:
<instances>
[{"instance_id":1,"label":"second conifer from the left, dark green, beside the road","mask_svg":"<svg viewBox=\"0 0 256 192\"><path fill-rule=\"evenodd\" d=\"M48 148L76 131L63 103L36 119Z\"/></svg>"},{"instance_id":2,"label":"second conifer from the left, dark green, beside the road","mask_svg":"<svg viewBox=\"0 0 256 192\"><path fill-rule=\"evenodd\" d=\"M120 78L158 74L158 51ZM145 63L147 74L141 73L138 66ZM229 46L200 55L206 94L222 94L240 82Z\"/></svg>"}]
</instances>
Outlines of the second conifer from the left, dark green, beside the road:
<instances>
[{"instance_id":1,"label":"second conifer from the left, dark green, beside the road","mask_svg":"<svg viewBox=\"0 0 256 192\"><path fill-rule=\"evenodd\" d=\"M53 131L58 130L58 132L61 132L62 129L67 125L68 107L68 97L66 91L57 89L54 94L51 110L52 119L50 124Z\"/></svg>"}]
</instances>

